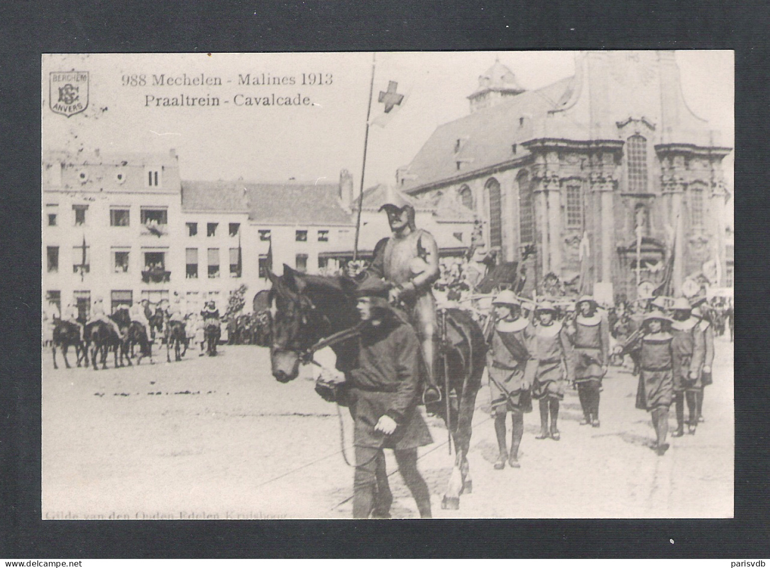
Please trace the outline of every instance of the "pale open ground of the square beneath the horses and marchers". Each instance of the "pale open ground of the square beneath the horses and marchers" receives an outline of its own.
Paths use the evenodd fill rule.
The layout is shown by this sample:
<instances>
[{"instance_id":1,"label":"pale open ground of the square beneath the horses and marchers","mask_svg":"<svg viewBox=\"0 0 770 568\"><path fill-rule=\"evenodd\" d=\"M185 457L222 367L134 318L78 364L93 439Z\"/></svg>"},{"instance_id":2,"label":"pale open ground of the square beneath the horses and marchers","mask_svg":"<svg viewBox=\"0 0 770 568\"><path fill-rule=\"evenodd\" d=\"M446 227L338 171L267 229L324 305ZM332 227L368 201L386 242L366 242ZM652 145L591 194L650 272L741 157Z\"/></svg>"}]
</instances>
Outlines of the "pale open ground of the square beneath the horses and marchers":
<instances>
[{"instance_id":1,"label":"pale open ground of the square beneath the horses and marchers","mask_svg":"<svg viewBox=\"0 0 770 568\"><path fill-rule=\"evenodd\" d=\"M637 379L611 367L601 393L601 427L579 426L577 393L561 404L561 440L537 440L537 403L524 417L521 469L494 470L489 390L477 398L468 456L473 493L460 510L440 509L454 453L447 430L427 417L434 444L418 465L443 518L731 517L733 351L715 342L714 384L695 436L651 449L650 416L634 408ZM72 359L72 357L71 357ZM350 518L353 424L326 403L309 376L286 385L269 354L223 346L217 357L189 352L179 363L107 370L54 370L42 352L43 519ZM63 367L59 361L60 367ZM686 410L685 410L686 412ZM340 422L345 441L341 450ZM671 408L671 430L674 429ZM510 419L508 436L510 442ZM417 516L387 453L392 513Z\"/></svg>"}]
</instances>

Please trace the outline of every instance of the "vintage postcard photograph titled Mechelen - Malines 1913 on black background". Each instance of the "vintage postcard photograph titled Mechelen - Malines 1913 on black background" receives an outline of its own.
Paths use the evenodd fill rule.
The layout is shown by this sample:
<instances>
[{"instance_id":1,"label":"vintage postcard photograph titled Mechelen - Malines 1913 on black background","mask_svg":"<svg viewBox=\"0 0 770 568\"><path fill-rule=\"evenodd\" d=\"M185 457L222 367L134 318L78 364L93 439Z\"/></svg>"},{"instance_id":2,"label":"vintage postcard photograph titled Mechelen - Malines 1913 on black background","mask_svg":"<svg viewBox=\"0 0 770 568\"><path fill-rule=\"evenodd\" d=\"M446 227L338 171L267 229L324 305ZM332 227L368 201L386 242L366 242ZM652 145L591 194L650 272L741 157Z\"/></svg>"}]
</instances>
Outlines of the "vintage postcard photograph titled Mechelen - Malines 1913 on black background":
<instances>
[{"instance_id":1,"label":"vintage postcard photograph titled Mechelen - Malines 1913 on black background","mask_svg":"<svg viewBox=\"0 0 770 568\"><path fill-rule=\"evenodd\" d=\"M734 83L43 55L42 519L733 517Z\"/></svg>"}]
</instances>

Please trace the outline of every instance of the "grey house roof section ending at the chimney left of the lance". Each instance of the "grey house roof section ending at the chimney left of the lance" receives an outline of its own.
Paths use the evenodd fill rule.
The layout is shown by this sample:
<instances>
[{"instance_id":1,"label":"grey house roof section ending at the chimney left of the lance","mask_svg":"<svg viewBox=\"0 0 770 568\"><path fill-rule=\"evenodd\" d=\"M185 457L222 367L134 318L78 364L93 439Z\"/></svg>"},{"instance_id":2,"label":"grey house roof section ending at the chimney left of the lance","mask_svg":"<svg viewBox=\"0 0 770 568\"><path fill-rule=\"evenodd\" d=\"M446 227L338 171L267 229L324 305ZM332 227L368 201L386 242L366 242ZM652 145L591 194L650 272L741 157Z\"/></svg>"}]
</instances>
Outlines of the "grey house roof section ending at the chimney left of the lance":
<instances>
[{"instance_id":1,"label":"grey house roof section ending at the chimney left of the lance","mask_svg":"<svg viewBox=\"0 0 770 568\"><path fill-rule=\"evenodd\" d=\"M353 225L340 203L340 186L330 183L245 183L252 222L290 225Z\"/></svg>"}]
</instances>

